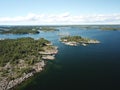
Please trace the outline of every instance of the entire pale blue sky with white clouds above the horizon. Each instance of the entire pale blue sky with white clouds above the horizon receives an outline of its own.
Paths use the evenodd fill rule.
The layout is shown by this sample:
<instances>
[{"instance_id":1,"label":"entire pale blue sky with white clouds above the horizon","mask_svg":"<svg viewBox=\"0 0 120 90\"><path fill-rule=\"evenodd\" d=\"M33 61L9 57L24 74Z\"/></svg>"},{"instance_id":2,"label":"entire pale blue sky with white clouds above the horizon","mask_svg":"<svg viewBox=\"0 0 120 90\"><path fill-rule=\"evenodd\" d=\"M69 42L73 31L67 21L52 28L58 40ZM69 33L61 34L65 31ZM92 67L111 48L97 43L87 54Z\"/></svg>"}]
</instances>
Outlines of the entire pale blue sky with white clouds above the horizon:
<instances>
[{"instance_id":1,"label":"entire pale blue sky with white clouds above the horizon","mask_svg":"<svg viewBox=\"0 0 120 90\"><path fill-rule=\"evenodd\" d=\"M120 0L0 0L0 25L120 24Z\"/></svg>"}]
</instances>

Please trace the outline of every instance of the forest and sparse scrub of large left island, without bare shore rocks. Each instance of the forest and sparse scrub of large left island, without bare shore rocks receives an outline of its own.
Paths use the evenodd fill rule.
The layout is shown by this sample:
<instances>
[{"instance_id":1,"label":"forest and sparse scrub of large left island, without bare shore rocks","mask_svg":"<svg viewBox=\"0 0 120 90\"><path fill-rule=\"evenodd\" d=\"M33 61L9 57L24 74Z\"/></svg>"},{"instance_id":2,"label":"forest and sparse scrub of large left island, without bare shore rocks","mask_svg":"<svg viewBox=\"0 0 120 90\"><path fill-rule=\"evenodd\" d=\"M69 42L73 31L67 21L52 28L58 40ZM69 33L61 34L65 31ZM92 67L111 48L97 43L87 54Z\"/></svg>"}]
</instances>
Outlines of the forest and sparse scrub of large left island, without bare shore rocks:
<instances>
[{"instance_id":1,"label":"forest and sparse scrub of large left island, without bare shore rocks","mask_svg":"<svg viewBox=\"0 0 120 90\"><path fill-rule=\"evenodd\" d=\"M24 73L37 71L45 49L54 49L50 41L40 38L18 38L0 40L0 80L16 79Z\"/></svg>"}]
</instances>

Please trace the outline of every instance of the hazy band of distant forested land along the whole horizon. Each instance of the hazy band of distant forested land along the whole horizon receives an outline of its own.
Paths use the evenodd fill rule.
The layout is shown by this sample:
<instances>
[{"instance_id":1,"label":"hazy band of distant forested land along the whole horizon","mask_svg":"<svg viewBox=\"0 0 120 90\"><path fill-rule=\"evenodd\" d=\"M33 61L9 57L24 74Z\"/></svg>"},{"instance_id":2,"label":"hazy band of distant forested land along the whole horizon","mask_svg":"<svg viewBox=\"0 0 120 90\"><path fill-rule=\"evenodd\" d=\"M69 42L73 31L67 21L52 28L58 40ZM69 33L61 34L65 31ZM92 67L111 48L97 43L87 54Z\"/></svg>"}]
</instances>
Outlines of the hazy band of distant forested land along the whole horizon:
<instances>
[{"instance_id":1,"label":"hazy band of distant forested land along the whole horizon","mask_svg":"<svg viewBox=\"0 0 120 90\"><path fill-rule=\"evenodd\" d=\"M40 31L59 31L58 28L61 27L81 30L120 30L120 25L0 26L0 34L38 34Z\"/></svg>"}]
</instances>

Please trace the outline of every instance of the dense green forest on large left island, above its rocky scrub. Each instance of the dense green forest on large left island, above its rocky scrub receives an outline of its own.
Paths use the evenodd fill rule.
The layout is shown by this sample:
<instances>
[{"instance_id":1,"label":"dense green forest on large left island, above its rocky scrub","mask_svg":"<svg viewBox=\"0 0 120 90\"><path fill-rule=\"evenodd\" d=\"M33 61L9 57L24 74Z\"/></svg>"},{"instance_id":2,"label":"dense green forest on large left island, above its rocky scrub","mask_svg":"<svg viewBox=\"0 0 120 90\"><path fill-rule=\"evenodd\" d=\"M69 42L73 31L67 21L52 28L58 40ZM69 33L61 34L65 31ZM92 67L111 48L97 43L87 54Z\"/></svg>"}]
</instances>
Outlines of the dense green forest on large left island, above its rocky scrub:
<instances>
[{"instance_id":1,"label":"dense green forest on large left island, above its rocky scrub","mask_svg":"<svg viewBox=\"0 0 120 90\"><path fill-rule=\"evenodd\" d=\"M25 59L28 63L33 63L38 57L41 57L38 52L47 43L50 42L43 38L38 40L33 38L0 40L0 66L4 66L7 62L16 64L19 59Z\"/></svg>"}]
</instances>

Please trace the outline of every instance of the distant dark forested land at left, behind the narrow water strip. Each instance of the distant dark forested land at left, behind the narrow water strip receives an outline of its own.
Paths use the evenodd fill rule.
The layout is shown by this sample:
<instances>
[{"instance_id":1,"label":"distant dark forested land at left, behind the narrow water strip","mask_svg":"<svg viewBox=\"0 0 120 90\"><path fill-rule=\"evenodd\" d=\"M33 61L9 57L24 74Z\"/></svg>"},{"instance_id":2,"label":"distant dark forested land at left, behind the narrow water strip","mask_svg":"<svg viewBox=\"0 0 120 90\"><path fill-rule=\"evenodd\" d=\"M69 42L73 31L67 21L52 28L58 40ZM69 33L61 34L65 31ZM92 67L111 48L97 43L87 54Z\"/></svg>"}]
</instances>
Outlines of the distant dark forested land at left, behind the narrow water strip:
<instances>
[{"instance_id":1,"label":"distant dark forested land at left, behind the narrow water strip","mask_svg":"<svg viewBox=\"0 0 120 90\"><path fill-rule=\"evenodd\" d=\"M10 26L0 27L0 34L39 34L41 31L59 31L51 26Z\"/></svg>"}]
</instances>

